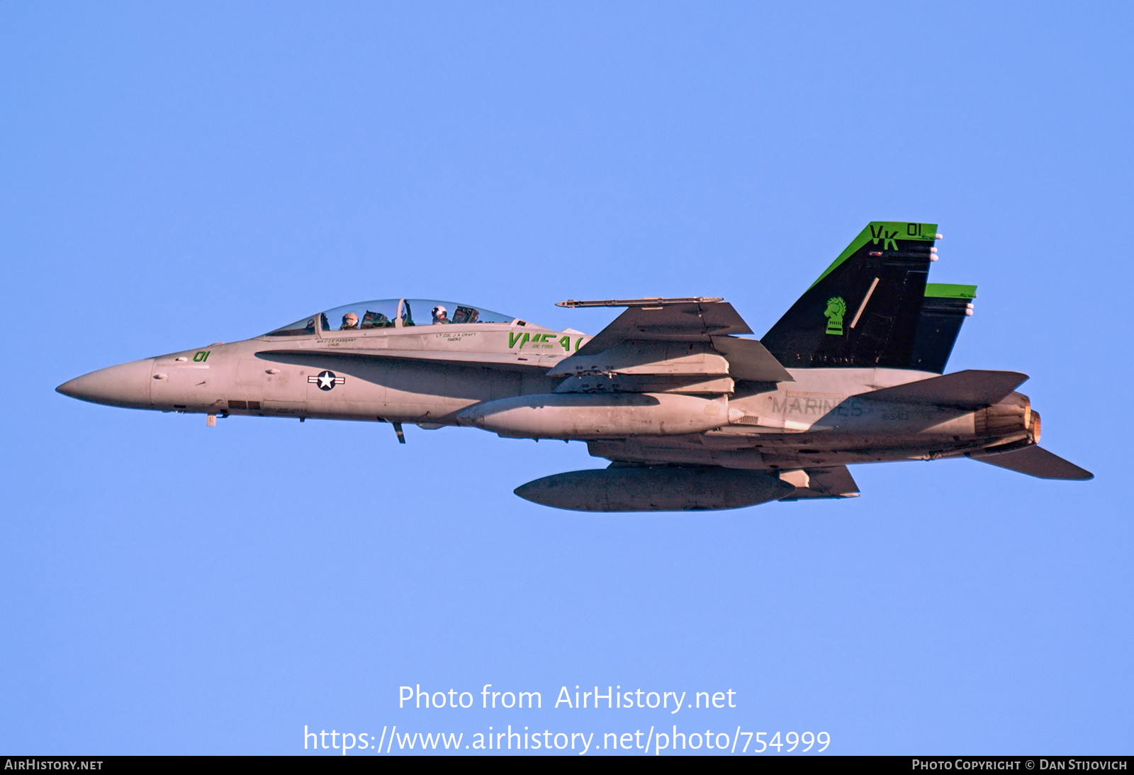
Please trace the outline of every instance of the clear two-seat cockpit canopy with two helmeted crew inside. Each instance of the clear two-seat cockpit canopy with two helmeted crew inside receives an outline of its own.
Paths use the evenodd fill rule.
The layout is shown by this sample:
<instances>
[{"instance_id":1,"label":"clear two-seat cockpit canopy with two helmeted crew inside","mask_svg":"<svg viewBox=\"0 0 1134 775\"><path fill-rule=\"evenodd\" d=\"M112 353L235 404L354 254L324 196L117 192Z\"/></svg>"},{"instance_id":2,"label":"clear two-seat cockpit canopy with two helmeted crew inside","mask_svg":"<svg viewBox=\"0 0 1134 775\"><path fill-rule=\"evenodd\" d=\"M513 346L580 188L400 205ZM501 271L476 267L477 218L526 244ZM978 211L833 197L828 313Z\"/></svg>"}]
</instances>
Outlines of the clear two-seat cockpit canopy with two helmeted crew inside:
<instances>
[{"instance_id":1,"label":"clear two-seat cockpit canopy with two helmeted crew inside","mask_svg":"<svg viewBox=\"0 0 1134 775\"><path fill-rule=\"evenodd\" d=\"M308 337L316 332L405 329L412 325L503 323L516 318L484 307L437 299L380 299L348 304L302 317L269 332L268 337Z\"/></svg>"}]
</instances>

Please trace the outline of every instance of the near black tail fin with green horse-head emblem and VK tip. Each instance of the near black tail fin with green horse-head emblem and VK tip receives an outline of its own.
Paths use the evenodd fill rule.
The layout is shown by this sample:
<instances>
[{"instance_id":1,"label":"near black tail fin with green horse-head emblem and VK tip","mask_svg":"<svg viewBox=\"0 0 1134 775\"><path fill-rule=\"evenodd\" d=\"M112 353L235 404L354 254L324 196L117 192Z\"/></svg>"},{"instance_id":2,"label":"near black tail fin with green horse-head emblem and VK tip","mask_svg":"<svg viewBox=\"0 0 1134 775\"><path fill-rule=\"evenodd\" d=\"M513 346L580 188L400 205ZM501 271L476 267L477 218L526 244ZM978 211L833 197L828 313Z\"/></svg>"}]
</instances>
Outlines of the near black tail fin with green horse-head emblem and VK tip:
<instances>
[{"instance_id":1,"label":"near black tail fin with green horse-head emblem and VK tip","mask_svg":"<svg viewBox=\"0 0 1134 775\"><path fill-rule=\"evenodd\" d=\"M909 368L936 238L936 223L870 223L760 341L789 368Z\"/></svg>"}]
</instances>

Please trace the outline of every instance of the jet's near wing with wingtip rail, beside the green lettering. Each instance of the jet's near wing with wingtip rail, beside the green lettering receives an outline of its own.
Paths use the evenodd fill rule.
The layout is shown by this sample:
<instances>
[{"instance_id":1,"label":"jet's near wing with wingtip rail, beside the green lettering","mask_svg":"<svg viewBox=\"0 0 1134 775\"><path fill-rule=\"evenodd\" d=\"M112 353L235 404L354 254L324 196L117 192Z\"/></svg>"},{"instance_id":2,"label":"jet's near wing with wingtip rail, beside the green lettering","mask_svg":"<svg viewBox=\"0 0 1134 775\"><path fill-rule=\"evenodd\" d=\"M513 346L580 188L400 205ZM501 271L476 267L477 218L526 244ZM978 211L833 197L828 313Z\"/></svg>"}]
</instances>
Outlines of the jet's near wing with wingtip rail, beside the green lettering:
<instances>
[{"instance_id":1,"label":"jet's near wing with wingtip rail, beside the green lettering","mask_svg":"<svg viewBox=\"0 0 1134 775\"><path fill-rule=\"evenodd\" d=\"M720 299L564 301L562 306L626 306L606 329L560 361L549 376L595 373L728 375L753 382L792 382L752 329Z\"/></svg>"}]
</instances>

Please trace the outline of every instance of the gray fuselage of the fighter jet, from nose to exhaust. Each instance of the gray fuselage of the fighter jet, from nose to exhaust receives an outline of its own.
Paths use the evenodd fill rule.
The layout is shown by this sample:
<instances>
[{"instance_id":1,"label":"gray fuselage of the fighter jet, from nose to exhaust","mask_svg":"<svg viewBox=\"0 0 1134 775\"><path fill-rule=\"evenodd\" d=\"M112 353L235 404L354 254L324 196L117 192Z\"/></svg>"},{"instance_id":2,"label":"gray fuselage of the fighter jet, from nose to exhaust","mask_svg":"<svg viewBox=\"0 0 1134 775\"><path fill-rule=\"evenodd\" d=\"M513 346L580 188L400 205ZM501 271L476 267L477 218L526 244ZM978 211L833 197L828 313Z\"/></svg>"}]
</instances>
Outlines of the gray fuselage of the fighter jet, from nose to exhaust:
<instances>
[{"instance_id":1,"label":"gray fuselage of the fighter jet, from nose to exhaust","mask_svg":"<svg viewBox=\"0 0 1134 775\"><path fill-rule=\"evenodd\" d=\"M206 415L254 415L443 425L483 425L484 407L506 399L536 397L530 414L547 414L564 393L615 397L618 381L548 376L551 367L591 338L530 323L472 323L391 326L369 331L315 331L215 343L130 361L77 377L59 388L75 398L112 406ZM543 421L533 429L509 426L501 435L586 441L592 454L641 463L709 465L768 469L831 466L960 454L1027 435L1027 399L1013 393L1000 415L1019 421L990 424L981 411L890 403L856 398L882 388L936 376L885 368L789 369L794 382L746 383L717 378L713 392L666 403L661 420L643 431L625 424L557 431ZM617 375L607 375L613 377ZM708 384L708 383L706 383ZM676 388L688 394L700 388ZM625 393L621 393L625 397ZM515 404L516 401L513 401ZM702 417L721 406L718 427L683 432L674 411ZM473 410L473 407L481 409ZM1019 407L1016 411L1015 407ZM462 412L469 410L464 417ZM640 410L650 411L650 408ZM711 409L716 411L716 409ZM471 417L475 415L475 418ZM476 419L480 418L480 419ZM646 418L650 419L649 417ZM677 418L685 419L685 416ZM474 421L475 420L475 421ZM667 425L668 423L668 425ZM637 426L635 426L637 427ZM655 431L650 428L654 427ZM689 427L688 425L684 427ZM666 428L675 428L667 432Z\"/></svg>"}]
</instances>

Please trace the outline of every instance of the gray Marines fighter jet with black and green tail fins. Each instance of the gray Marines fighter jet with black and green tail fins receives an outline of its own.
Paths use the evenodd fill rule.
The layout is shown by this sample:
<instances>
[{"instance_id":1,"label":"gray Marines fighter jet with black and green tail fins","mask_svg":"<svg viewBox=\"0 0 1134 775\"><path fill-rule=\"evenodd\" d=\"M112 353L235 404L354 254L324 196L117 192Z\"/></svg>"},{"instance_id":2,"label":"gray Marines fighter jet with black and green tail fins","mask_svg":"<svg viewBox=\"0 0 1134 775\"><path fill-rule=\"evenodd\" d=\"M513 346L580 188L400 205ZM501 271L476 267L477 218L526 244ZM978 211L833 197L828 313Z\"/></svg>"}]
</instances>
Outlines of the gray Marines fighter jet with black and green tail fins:
<instances>
[{"instance_id":1,"label":"gray Marines fighter jet with black and green tail fins","mask_svg":"<svg viewBox=\"0 0 1134 775\"><path fill-rule=\"evenodd\" d=\"M848 465L966 457L1092 475L1043 448L1018 372L943 374L974 286L928 283L937 224L875 221L762 338L722 298L624 308L586 335L472 304L391 298L239 342L134 360L65 395L217 417L468 426L582 441L609 467L515 493L578 511L736 509L858 495Z\"/></svg>"}]
</instances>

